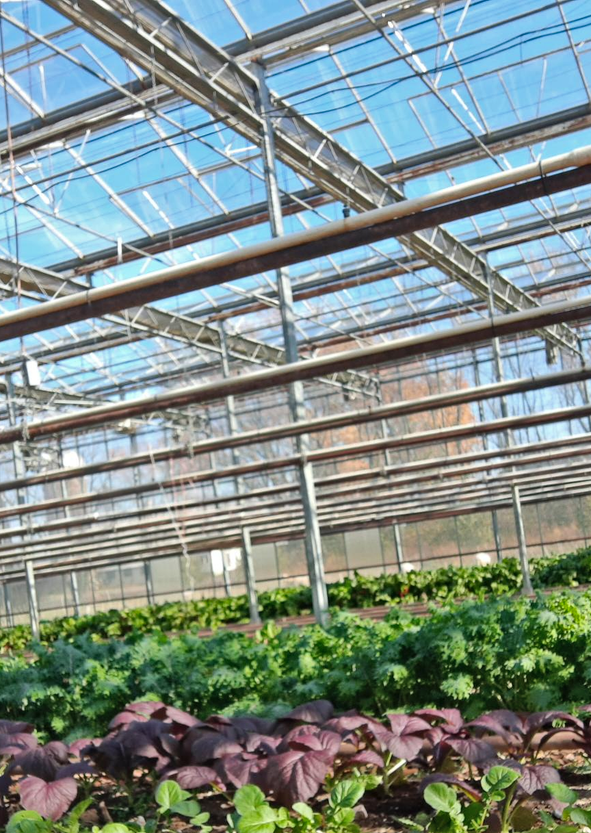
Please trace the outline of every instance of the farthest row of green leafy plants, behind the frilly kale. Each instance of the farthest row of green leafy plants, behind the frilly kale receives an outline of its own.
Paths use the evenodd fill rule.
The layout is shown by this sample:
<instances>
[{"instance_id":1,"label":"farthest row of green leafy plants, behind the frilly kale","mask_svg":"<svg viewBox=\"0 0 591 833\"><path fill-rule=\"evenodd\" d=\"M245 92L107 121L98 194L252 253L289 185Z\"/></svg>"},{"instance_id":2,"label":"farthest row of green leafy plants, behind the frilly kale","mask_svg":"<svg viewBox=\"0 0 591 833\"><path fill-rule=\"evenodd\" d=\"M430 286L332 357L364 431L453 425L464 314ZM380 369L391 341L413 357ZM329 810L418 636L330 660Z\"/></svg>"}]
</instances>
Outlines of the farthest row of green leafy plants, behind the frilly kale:
<instances>
[{"instance_id":1,"label":"farthest row of green leafy plants, behind the frilly kale","mask_svg":"<svg viewBox=\"0 0 591 833\"><path fill-rule=\"evenodd\" d=\"M570 587L591 582L591 548L568 556L549 556L531 562L534 587ZM338 609L393 605L414 601L449 601L461 597L501 596L519 591L519 563L507 558L489 566L441 567L438 570L388 573L345 578L328 586L330 606ZM311 610L310 588L285 587L259 594L263 620L297 616ZM42 643L84 633L96 638L130 633L186 631L248 621L246 596L171 602L127 611L103 611L91 616L66 617L41 626ZM31 642L29 626L0 629L0 650L19 651Z\"/></svg>"}]
</instances>

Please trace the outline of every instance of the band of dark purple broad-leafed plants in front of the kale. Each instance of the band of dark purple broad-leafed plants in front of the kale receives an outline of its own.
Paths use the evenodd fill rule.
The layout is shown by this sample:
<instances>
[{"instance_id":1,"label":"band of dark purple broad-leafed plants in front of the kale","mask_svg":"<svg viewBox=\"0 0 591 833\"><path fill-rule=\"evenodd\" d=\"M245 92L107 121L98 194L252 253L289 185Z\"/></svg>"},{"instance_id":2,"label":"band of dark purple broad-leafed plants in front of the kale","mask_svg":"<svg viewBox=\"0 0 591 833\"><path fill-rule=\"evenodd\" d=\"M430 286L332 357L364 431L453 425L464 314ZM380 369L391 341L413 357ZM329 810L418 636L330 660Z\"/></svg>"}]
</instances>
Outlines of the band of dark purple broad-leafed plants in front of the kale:
<instances>
[{"instance_id":1,"label":"band of dark purple broad-leafed plants in front of the kale","mask_svg":"<svg viewBox=\"0 0 591 833\"><path fill-rule=\"evenodd\" d=\"M587 711L591 711L589 706ZM559 722L559 726L554 724ZM27 723L0 721L0 811L17 785L21 803L60 818L77 798L80 779L112 779L131 795L137 779L176 780L182 789L235 790L259 786L271 801L292 806L325 788L326 778L367 773L388 791L405 767L432 771L423 782L447 781L474 796L474 786L438 770L449 758L484 773L502 763L519 771L519 790L535 795L559 781L535 755L554 735L574 733L591 753L591 726L562 711L522 716L491 711L464 721L457 709L390 714L385 721L348 711L335 715L328 701L298 706L278 720L213 715L206 721L161 702L131 703L113 718L104 738L40 746ZM499 753L504 750L508 757ZM148 781L147 781L148 782Z\"/></svg>"}]
</instances>

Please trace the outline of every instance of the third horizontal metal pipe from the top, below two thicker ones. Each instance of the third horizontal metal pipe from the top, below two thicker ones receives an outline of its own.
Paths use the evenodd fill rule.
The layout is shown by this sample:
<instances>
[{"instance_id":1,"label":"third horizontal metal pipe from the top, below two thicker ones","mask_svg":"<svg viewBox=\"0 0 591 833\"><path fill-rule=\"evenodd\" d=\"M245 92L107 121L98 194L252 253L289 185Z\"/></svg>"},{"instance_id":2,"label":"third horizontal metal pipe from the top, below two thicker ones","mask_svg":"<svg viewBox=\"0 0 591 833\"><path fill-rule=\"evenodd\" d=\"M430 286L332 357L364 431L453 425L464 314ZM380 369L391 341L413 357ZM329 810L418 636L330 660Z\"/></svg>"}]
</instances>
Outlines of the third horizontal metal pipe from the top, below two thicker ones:
<instances>
[{"instance_id":1,"label":"third horizontal metal pipe from the top, below two thicker ones","mask_svg":"<svg viewBox=\"0 0 591 833\"><path fill-rule=\"evenodd\" d=\"M206 440L193 442L189 445L144 451L140 454L127 457L117 457L112 460L89 463L86 466L44 471L36 475L2 481L0 483L0 491L11 491L12 489L21 489L27 486L36 486L41 483L71 479L72 477L83 477L104 471L118 471L130 466L151 465L164 460L196 456L211 451L234 448L236 446L246 446L254 443L260 444L271 440L297 436L302 433L335 430L336 428L345 426L361 425L370 421L390 419L396 416L408 416L410 414L433 411L438 408L454 407L456 405L478 402L493 397L503 397L546 387L557 387L559 385L584 382L589 379L591 379L591 367L579 367L575 370L548 373L544 376L522 377L504 382L494 382L489 385L436 393L429 397L419 397L417 399L406 400L405 402L390 402L385 405L357 411L317 416L300 422L287 422L282 425L268 426L254 431L241 431L230 436L211 437Z\"/></svg>"}]
</instances>

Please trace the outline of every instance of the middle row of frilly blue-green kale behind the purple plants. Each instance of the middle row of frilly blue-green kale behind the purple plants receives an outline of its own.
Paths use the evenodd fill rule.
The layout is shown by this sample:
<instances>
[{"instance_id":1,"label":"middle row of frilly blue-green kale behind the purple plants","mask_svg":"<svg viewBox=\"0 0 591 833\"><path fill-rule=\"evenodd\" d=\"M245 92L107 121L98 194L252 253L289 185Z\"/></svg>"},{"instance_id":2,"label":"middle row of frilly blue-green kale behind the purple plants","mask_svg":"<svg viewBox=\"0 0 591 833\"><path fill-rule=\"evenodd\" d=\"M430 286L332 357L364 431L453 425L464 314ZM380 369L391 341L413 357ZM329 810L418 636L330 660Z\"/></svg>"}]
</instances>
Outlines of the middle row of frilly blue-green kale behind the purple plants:
<instances>
[{"instance_id":1,"label":"middle row of frilly blue-green kale behind the purple plants","mask_svg":"<svg viewBox=\"0 0 591 833\"><path fill-rule=\"evenodd\" d=\"M198 716L275 716L310 699L345 711L459 706L469 717L508 708L568 711L591 701L591 591L468 601L385 621L352 614L326 629L254 637L161 633L94 642L78 636L0 661L0 714L44 737L97 736L114 710L156 699Z\"/></svg>"}]
</instances>

